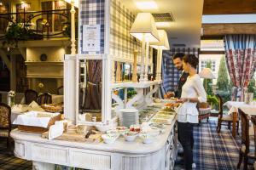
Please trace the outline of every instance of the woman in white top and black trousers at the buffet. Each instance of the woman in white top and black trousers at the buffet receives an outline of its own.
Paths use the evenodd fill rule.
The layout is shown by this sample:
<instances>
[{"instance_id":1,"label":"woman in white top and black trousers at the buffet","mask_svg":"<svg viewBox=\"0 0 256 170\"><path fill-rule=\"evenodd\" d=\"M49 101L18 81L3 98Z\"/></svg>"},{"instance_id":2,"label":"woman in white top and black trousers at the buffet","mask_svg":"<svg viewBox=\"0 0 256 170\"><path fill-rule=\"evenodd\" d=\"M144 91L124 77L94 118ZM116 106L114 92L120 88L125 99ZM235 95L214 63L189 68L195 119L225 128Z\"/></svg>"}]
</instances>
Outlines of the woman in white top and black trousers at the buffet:
<instances>
[{"instance_id":1,"label":"woman in white top and black trousers at the buffet","mask_svg":"<svg viewBox=\"0 0 256 170\"><path fill-rule=\"evenodd\" d=\"M189 73L189 77L183 85L180 99L182 105L177 111L177 133L179 133L179 142L183 146L186 169L192 169L193 164L193 125L198 123L196 104L207 102L207 93L196 71L198 62L199 60L194 54L183 57L183 70Z\"/></svg>"}]
</instances>

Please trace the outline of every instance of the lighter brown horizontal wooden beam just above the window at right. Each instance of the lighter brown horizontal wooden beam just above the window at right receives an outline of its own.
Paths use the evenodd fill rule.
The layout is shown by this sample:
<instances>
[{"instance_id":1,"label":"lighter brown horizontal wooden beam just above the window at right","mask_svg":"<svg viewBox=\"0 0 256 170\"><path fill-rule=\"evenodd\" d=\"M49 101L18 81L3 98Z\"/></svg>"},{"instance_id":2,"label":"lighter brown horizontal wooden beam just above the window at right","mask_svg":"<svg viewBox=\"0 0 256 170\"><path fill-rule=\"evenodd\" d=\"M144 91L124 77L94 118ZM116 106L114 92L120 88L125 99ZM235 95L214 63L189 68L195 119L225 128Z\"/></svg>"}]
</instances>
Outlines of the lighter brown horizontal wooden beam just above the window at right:
<instances>
[{"instance_id":1,"label":"lighter brown horizontal wooden beam just above the window at right","mask_svg":"<svg viewBox=\"0 0 256 170\"><path fill-rule=\"evenodd\" d=\"M256 24L203 24L203 36L256 34Z\"/></svg>"}]
</instances>

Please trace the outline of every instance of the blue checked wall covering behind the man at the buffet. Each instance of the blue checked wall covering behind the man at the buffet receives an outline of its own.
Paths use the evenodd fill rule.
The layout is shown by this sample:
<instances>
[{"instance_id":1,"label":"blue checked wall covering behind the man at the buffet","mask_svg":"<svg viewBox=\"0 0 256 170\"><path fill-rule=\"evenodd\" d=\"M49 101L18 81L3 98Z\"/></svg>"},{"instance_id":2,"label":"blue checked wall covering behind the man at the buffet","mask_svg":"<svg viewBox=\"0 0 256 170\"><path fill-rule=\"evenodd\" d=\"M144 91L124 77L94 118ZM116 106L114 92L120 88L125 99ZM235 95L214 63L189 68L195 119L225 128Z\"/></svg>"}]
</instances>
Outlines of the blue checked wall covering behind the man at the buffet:
<instances>
[{"instance_id":1,"label":"blue checked wall covering behind the man at the buffet","mask_svg":"<svg viewBox=\"0 0 256 170\"><path fill-rule=\"evenodd\" d=\"M198 55L198 48L172 48L169 51L163 51L162 59L162 80L161 94L166 94L168 91L176 91L181 71L172 63L172 56L177 53L195 54Z\"/></svg>"}]
</instances>

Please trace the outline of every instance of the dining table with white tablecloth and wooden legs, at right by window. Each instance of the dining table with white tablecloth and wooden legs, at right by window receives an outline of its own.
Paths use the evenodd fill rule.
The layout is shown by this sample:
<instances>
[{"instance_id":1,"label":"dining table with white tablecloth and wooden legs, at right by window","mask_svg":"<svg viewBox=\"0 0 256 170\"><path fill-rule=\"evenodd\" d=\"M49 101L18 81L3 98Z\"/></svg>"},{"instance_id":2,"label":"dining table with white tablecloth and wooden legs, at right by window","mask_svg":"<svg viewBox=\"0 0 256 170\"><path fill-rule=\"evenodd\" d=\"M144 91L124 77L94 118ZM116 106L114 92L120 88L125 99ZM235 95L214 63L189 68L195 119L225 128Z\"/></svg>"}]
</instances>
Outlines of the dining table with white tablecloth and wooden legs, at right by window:
<instances>
[{"instance_id":1,"label":"dining table with white tablecloth and wooden legs, at right by window","mask_svg":"<svg viewBox=\"0 0 256 170\"><path fill-rule=\"evenodd\" d=\"M256 116L256 101L245 103L242 101L227 101L224 103L225 106L229 108L228 114L232 114L232 136L236 137L236 118L238 115L238 109L241 109L248 116ZM252 130L250 130L252 131Z\"/></svg>"}]
</instances>

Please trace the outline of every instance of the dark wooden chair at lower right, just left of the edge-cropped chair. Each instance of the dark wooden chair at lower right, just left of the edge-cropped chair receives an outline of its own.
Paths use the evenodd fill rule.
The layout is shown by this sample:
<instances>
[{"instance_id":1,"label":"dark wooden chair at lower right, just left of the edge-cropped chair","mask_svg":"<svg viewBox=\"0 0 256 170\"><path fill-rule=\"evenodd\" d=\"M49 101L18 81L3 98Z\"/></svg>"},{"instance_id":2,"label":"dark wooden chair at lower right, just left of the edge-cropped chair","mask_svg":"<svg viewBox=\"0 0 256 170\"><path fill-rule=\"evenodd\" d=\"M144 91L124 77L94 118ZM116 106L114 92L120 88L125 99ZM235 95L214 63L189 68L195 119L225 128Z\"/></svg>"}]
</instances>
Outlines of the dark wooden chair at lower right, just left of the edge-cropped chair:
<instances>
[{"instance_id":1,"label":"dark wooden chair at lower right, just left of the edge-cropped chair","mask_svg":"<svg viewBox=\"0 0 256 170\"><path fill-rule=\"evenodd\" d=\"M247 170L248 159L255 159L255 146L250 144L249 136L249 121L250 117L247 116L241 109L238 109L239 114L241 115L241 148L239 151L239 161L237 168L241 166L241 160L243 158L243 169Z\"/></svg>"}]
</instances>

